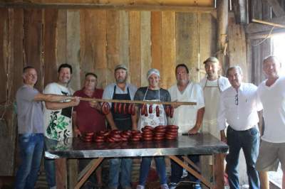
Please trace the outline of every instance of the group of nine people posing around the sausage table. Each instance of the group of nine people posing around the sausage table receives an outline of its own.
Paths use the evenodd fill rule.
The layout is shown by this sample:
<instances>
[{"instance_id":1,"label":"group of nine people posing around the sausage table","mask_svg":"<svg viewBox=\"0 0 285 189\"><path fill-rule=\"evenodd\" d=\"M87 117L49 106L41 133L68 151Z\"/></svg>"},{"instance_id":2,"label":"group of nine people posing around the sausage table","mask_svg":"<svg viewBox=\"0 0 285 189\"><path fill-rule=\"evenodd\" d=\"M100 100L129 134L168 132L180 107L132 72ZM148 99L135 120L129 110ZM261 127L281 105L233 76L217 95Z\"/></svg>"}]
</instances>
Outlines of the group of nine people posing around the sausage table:
<instances>
[{"instance_id":1,"label":"group of nine people posing around the sausage table","mask_svg":"<svg viewBox=\"0 0 285 189\"><path fill-rule=\"evenodd\" d=\"M274 56L266 58L263 63L267 80L257 88L255 85L242 82L242 69L234 66L227 70L227 78L219 75L219 60L210 57L204 61L207 75L196 84L190 80L190 72L185 64L175 68L177 83L165 90L160 87L160 72L150 69L147 72L147 87L137 88L128 80L128 68L125 65L115 66L115 82L105 90L97 89L97 75L88 72L83 89L73 92L68 86L72 68L63 64L58 68L58 82L46 85L38 92L34 88L37 81L36 70L24 68L24 85L16 94L19 123L19 146L21 165L16 174L16 188L33 188L41 164L44 145L56 144L68 137L82 136L86 132L105 129L140 130L144 126L174 124L179 126L179 134L197 134L209 132L229 145L226 172L230 188L239 188L237 165L239 151L242 148L247 163L250 188L266 188L268 178L266 171L276 170L281 162L285 167L285 93L283 82L279 77L279 62ZM155 111L147 115L140 114L141 106L136 106L136 114L125 114L114 109L110 103L110 113L103 114L98 102L80 101L81 97L96 99L143 100L151 101L152 107L158 106L159 117ZM274 98L273 98L274 97ZM155 102L196 102L193 106L174 106L173 117L167 117L162 104ZM44 102L44 103L41 103ZM149 105L147 105L149 106ZM148 107L147 107L148 109ZM264 135L259 148L259 117L257 112L264 112ZM227 136L224 130L227 128ZM270 148L270 153L269 153ZM274 149L274 153L272 153ZM258 158L257 158L258 156ZM181 156L178 156L181 158ZM199 164L199 156L189 156ZM155 156L155 166L160 178L160 188L176 188L180 182L183 169L171 161L170 182L167 183L165 158ZM79 169L83 169L90 159L81 159ZM138 189L145 188L152 157L142 157ZM45 158L46 178L49 188L56 188L55 163ZM108 188L132 188L131 158L110 158ZM213 164L213 162L209 162ZM193 167L194 168L194 167ZM195 169L195 168L194 168ZM259 171L259 173L257 172ZM102 168L98 167L95 177L86 182L86 188L102 186ZM93 180L96 178L95 180ZM199 189L199 180L189 174L193 188ZM284 187L285 184L283 183Z\"/></svg>"}]
</instances>

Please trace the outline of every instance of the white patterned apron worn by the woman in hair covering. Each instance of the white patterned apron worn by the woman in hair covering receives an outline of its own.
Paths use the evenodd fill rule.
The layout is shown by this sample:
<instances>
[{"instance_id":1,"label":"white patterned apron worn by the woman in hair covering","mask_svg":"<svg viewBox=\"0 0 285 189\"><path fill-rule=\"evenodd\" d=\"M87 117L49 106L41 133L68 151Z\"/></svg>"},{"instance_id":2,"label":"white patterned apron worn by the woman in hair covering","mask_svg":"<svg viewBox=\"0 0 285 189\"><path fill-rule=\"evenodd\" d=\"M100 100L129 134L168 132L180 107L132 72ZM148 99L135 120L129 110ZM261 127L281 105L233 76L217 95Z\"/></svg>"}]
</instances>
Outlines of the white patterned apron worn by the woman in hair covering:
<instances>
[{"instance_id":1,"label":"white patterned apron worn by the woman in hair covering","mask_svg":"<svg viewBox=\"0 0 285 189\"><path fill-rule=\"evenodd\" d=\"M148 87L147 87L148 91ZM147 91L145 92L145 97L147 95ZM145 100L145 97L143 97L143 101L151 101L151 102L160 102L160 90L158 90L158 99L152 99L152 100ZM160 108L160 117L156 116L156 106ZM138 120L138 129L142 129L146 125L148 126L158 126L158 125L167 125L167 117L165 114L165 109L162 104L152 104L152 114L148 112L148 109L150 107L150 104L147 104L147 117L145 115L141 114L142 109L140 109L140 119Z\"/></svg>"}]
</instances>

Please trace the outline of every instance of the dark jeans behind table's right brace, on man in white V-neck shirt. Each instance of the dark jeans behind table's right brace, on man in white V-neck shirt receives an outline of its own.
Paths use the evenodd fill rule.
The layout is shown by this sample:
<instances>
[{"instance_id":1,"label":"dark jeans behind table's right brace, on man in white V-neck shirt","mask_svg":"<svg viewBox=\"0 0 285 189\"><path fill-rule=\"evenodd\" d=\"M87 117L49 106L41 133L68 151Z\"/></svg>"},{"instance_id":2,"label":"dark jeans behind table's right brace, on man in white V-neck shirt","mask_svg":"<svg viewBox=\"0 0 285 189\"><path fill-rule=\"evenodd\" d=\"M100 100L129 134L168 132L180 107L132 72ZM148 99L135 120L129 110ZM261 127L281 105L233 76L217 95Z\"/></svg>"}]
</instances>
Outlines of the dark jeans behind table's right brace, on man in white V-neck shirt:
<instances>
[{"instance_id":1,"label":"dark jeans behind table's right brace, on man in white V-neck shirt","mask_svg":"<svg viewBox=\"0 0 285 189\"><path fill-rule=\"evenodd\" d=\"M183 161L182 156L177 156L177 158L180 158L180 160ZM199 163L199 156L198 155L191 155L188 156L188 158L190 158L190 160L197 164ZM179 183L183 174L183 168L182 166L180 166L179 164L177 164L175 161L170 160L171 163L171 176L170 176L170 183ZM197 171L194 167L190 166L191 168L193 168L195 171ZM192 175L191 173L188 173L188 178L190 181L195 182L195 183L200 183L200 180L195 178L194 175Z\"/></svg>"}]
</instances>

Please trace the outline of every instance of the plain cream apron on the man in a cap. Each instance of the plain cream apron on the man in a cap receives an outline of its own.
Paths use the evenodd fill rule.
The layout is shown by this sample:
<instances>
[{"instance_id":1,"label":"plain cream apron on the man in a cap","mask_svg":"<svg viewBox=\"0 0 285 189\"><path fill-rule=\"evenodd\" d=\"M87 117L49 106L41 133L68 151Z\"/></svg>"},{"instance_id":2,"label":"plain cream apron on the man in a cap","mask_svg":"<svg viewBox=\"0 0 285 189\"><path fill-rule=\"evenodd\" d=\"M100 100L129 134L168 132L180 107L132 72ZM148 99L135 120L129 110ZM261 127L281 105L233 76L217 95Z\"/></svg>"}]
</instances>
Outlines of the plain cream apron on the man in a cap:
<instances>
[{"instance_id":1,"label":"plain cream apron on the man in a cap","mask_svg":"<svg viewBox=\"0 0 285 189\"><path fill-rule=\"evenodd\" d=\"M220 132L217 126L217 112L219 108L219 96L222 92L219 86L219 77L217 81L211 82L206 79L206 83L203 88L205 112L203 119L202 131L208 132L217 139L220 139Z\"/></svg>"}]
</instances>

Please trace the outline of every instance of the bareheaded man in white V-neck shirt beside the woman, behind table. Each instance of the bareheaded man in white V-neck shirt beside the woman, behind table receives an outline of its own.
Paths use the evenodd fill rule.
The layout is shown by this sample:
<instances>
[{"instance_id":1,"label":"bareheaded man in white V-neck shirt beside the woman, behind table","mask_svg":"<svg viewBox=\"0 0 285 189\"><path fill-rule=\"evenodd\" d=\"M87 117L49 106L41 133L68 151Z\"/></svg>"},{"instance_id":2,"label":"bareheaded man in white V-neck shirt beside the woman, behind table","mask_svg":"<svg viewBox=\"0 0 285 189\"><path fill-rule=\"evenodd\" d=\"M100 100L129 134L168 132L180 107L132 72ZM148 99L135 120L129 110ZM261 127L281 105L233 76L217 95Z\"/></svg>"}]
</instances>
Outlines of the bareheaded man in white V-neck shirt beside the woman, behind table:
<instances>
[{"instance_id":1,"label":"bareheaded man in white V-neck shirt beside the woman, behind table","mask_svg":"<svg viewBox=\"0 0 285 189\"><path fill-rule=\"evenodd\" d=\"M170 92L171 100L180 102L197 102L197 104L195 106L175 107L173 117L168 120L168 124L179 126L179 134L197 134L202 125L204 115L203 90L198 84L190 82L187 65L177 65L175 68L175 74L177 84L173 85L168 90ZM189 156L189 158L194 163L199 163L199 156ZM182 172L182 167L174 161L171 161L170 189L175 188L177 183L180 182ZM190 175L190 181L199 183L199 180L197 180L193 175ZM199 189L201 186L196 184L193 185L193 188Z\"/></svg>"}]
</instances>

